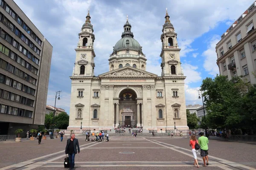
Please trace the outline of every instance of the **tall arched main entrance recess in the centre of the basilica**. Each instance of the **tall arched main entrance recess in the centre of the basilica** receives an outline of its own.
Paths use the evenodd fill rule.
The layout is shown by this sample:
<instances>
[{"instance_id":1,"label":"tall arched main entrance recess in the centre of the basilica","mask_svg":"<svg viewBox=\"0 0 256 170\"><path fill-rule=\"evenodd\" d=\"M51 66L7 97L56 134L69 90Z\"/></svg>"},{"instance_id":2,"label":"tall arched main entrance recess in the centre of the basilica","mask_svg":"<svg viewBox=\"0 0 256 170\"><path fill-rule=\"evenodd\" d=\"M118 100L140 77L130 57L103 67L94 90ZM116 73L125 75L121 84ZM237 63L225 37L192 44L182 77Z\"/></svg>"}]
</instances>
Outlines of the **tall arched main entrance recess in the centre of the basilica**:
<instances>
[{"instance_id":1,"label":"tall arched main entrance recess in the centre of the basilica","mask_svg":"<svg viewBox=\"0 0 256 170\"><path fill-rule=\"evenodd\" d=\"M116 116L119 121L116 125L119 127L136 127L138 116L140 116L140 107L137 107L137 95L132 89L124 89L119 93L119 107L116 108ZM116 127L117 127L116 126Z\"/></svg>"}]
</instances>

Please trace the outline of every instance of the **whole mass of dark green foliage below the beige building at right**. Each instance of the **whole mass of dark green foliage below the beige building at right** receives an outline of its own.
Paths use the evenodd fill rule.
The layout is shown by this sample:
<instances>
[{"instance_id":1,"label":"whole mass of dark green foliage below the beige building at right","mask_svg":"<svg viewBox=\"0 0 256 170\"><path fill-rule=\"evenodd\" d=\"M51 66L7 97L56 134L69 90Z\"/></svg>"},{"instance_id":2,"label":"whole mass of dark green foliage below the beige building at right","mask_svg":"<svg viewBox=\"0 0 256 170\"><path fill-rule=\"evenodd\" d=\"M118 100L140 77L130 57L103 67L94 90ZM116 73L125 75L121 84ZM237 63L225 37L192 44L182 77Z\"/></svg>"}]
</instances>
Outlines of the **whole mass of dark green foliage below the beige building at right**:
<instances>
[{"instance_id":1,"label":"whole mass of dark green foliage below the beige building at right","mask_svg":"<svg viewBox=\"0 0 256 170\"><path fill-rule=\"evenodd\" d=\"M210 128L251 128L255 121L255 88L242 77L227 80L225 76L206 78L201 85L207 106L207 125ZM254 127L255 128L255 127Z\"/></svg>"}]
</instances>

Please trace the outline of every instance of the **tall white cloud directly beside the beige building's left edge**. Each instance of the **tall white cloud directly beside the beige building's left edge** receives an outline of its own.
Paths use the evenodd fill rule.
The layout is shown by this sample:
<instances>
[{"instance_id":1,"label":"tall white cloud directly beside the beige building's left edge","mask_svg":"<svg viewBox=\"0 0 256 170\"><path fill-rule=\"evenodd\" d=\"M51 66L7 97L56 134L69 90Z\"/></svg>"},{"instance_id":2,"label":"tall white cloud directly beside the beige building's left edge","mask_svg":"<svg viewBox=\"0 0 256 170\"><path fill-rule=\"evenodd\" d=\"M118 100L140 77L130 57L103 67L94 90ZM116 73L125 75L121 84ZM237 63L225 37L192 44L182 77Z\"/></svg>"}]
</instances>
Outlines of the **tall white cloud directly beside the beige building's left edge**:
<instances>
[{"instance_id":1,"label":"tall white cloud directly beside the beige building's left edge","mask_svg":"<svg viewBox=\"0 0 256 170\"><path fill-rule=\"evenodd\" d=\"M213 36L212 39L209 42L207 42L207 50L204 51L202 54L202 56L205 57L204 69L212 76L216 76L216 74L219 74L218 65L216 64L217 54L215 52L215 47L220 40L220 36Z\"/></svg>"}]
</instances>

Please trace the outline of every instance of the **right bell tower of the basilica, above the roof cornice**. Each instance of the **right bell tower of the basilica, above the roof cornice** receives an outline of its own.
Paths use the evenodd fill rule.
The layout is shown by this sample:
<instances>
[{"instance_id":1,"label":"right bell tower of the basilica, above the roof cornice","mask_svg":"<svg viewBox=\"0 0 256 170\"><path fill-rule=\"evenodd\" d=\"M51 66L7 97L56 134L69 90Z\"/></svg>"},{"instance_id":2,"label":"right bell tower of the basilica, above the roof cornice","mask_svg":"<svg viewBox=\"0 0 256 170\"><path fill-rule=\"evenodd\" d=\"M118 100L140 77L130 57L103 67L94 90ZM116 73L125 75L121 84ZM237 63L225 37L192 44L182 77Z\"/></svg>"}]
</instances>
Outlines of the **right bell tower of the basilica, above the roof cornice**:
<instances>
[{"instance_id":1,"label":"right bell tower of the basilica, above the roof cornice","mask_svg":"<svg viewBox=\"0 0 256 170\"><path fill-rule=\"evenodd\" d=\"M170 16L166 8L165 24L161 35L162 76L183 76L180 63L180 48L177 42L177 33L170 21Z\"/></svg>"}]
</instances>

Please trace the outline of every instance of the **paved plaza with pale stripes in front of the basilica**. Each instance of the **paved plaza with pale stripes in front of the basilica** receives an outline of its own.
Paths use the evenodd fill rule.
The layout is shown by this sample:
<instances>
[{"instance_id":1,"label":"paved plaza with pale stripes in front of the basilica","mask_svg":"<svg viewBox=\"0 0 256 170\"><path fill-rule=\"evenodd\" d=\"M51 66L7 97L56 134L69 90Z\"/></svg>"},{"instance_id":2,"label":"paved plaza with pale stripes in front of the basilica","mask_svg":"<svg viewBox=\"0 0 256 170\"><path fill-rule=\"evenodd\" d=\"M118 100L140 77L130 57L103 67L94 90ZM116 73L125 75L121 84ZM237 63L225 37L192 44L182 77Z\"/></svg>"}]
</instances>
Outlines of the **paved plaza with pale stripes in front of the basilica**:
<instances>
[{"instance_id":1,"label":"paved plaza with pale stripes in front of the basilica","mask_svg":"<svg viewBox=\"0 0 256 170\"><path fill-rule=\"evenodd\" d=\"M93 170L191 170L194 158L189 137L110 136L109 142L79 139L75 169ZM60 139L0 143L0 170L64 170L64 142ZM209 140L209 170L256 170L256 144ZM67 168L66 168L67 170Z\"/></svg>"}]
</instances>

